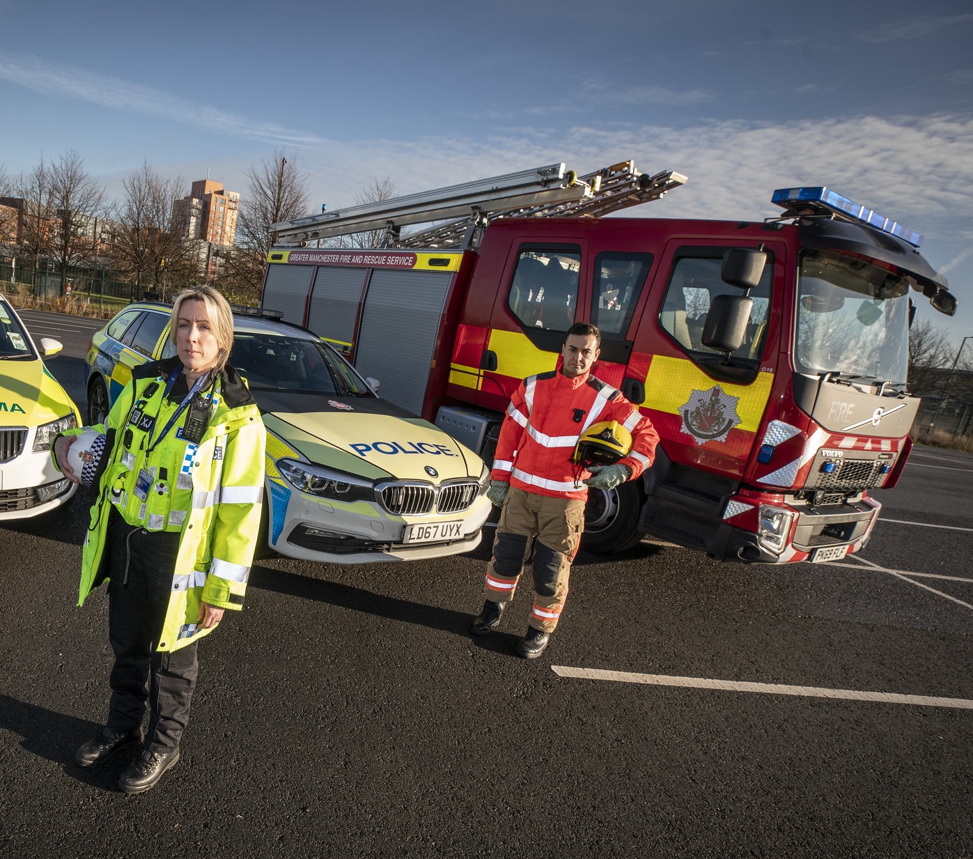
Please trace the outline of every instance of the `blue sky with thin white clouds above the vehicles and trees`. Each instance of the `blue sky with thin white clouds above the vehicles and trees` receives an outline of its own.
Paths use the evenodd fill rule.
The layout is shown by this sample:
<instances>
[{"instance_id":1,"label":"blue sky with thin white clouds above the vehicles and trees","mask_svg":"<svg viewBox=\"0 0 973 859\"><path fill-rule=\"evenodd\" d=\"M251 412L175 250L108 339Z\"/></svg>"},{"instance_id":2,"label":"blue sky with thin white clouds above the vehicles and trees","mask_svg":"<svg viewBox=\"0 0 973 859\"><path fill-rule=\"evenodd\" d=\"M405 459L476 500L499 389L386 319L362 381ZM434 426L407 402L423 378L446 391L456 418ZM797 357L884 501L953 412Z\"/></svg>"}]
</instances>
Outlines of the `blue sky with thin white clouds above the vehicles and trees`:
<instances>
[{"instance_id":1,"label":"blue sky with thin white clouds above the vehicles and trees","mask_svg":"<svg viewBox=\"0 0 973 859\"><path fill-rule=\"evenodd\" d=\"M968 0L0 0L0 21L10 174L74 149L112 195L144 160L245 194L283 147L316 209L631 158L689 177L631 214L732 219L828 185L925 236L959 310L919 318L973 335Z\"/></svg>"}]
</instances>

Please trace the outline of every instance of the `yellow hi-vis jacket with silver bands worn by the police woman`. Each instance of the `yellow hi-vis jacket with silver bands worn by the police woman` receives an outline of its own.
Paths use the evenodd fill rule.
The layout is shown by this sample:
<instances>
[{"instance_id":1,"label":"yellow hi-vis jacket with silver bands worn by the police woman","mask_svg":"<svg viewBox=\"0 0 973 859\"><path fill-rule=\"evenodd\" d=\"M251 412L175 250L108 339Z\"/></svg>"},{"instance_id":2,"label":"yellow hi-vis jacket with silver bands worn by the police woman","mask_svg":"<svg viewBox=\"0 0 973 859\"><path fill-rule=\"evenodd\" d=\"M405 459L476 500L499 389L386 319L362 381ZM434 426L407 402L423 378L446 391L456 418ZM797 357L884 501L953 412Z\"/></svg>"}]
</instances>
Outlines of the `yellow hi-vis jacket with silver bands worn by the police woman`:
<instances>
[{"instance_id":1,"label":"yellow hi-vis jacket with silver bands worn by the police woman","mask_svg":"<svg viewBox=\"0 0 973 859\"><path fill-rule=\"evenodd\" d=\"M80 606L111 575L105 543L113 506L129 524L178 530L179 552L159 651L178 650L211 631L197 626L200 602L242 608L263 506L264 422L250 391L229 365L214 389L215 407L198 445L181 438L173 426L146 458L153 427L144 417L160 415L166 380L181 366L175 357L136 367L107 425L99 427L107 435L106 455L111 450L111 458L91 507L78 592ZM162 426L155 427L156 433L161 431ZM133 497L141 471L148 470L155 480L160 474L154 461L174 458L181 468L175 479L169 476L167 498L160 502L152 491L146 503Z\"/></svg>"}]
</instances>

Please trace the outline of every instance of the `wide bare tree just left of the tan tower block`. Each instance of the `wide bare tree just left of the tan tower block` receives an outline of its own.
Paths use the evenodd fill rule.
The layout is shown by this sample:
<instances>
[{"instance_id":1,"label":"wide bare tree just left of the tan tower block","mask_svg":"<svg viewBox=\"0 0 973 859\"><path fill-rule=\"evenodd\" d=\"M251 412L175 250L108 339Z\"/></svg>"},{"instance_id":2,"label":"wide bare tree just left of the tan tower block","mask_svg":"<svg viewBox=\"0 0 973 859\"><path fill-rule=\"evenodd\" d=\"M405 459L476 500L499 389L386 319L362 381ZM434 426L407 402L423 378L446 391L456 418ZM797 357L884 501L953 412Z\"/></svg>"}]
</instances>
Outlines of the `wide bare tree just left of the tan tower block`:
<instances>
[{"instance_id":1,"label":"wide bare tree just left of the tan tower block","mask_svg":"<svg viewBox=\"0 0 973 859\"><path fill-rule=\"evenodd\" d=\"M189 235L190 210L182 178L165 178L145 161L122 180L115 209L112 268L121 280L160 299L198 280L199 242Z\"/></svg>"}]
</instances>

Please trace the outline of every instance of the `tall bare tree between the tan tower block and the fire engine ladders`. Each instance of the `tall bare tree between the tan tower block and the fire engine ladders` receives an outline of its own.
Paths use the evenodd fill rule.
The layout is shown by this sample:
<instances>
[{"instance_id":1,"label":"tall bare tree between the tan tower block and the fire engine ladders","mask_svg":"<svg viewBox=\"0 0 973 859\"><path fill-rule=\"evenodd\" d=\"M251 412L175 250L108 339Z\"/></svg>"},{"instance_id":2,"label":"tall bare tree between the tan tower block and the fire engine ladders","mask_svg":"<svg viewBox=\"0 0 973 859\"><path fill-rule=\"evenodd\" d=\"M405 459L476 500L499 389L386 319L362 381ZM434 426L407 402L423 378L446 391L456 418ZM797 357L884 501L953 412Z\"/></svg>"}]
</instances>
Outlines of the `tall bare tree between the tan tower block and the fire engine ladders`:
<instances>
[{"instance_id":1,"label":"tall bare tree between the tan tower block and the fire engine ladders","mask_svg":"<svg viewBox=\"0 0 973 859\"><path fill-rule=\"evenodd\" d=\"M307 214L307 174L293 155L275 150L247 171L249 193L240 200L236 243L217 282L241 304L257 304L272 238L270 227Z\"/></svg>"}]
</instances>

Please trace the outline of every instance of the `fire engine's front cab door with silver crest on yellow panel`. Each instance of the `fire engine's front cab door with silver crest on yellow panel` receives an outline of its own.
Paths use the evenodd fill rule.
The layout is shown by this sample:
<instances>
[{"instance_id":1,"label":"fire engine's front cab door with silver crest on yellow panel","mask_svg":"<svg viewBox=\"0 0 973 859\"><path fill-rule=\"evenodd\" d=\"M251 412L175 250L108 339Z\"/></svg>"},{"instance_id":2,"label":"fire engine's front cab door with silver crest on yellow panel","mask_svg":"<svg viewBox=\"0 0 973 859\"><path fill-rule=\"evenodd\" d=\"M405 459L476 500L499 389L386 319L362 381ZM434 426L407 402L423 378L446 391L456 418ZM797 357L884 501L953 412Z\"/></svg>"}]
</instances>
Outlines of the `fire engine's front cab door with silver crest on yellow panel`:
<instances>
[{"instance_id":1,"label":"fire engine's front cab door with silver crest on yellow panel","mask_svg":"<svg viewBox=\"0 0 973 859\"><path fill-rule=\"evenodd\" d=\"M742 296L721 275L728 248L763 243L767 264L756 289L745 338L729 361L703 345L713 299ZM652 278L635 334L634 359L645 373L645 412L668 457L721 478L740 480L754 450L775 377L786 246L740 237L671 239Z\"/></svg>"}]
</instances>

